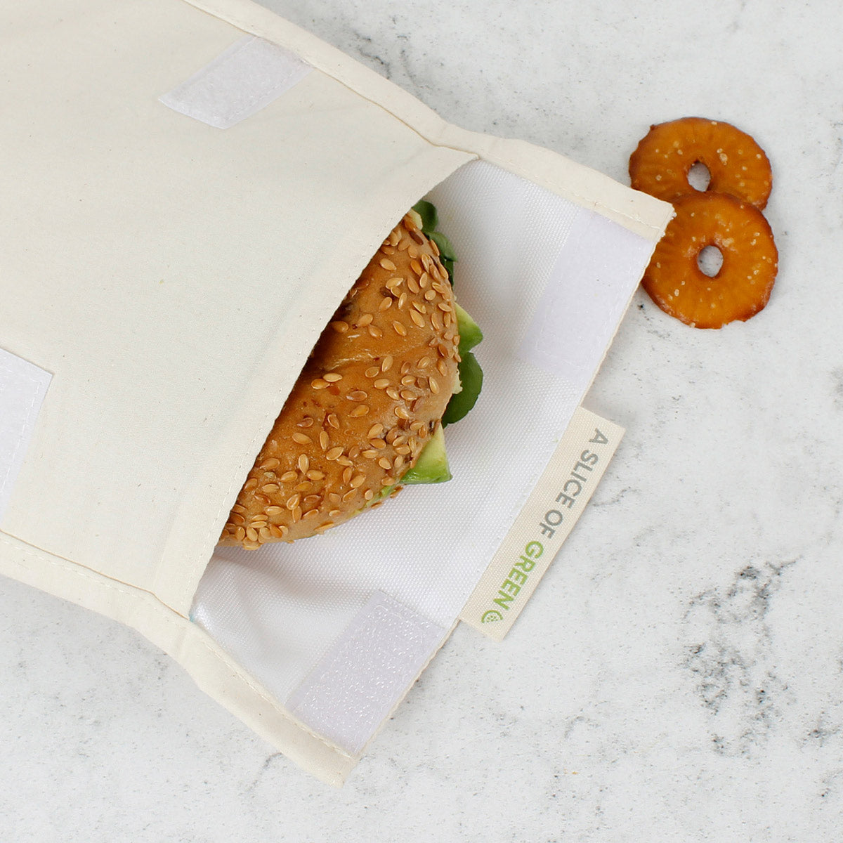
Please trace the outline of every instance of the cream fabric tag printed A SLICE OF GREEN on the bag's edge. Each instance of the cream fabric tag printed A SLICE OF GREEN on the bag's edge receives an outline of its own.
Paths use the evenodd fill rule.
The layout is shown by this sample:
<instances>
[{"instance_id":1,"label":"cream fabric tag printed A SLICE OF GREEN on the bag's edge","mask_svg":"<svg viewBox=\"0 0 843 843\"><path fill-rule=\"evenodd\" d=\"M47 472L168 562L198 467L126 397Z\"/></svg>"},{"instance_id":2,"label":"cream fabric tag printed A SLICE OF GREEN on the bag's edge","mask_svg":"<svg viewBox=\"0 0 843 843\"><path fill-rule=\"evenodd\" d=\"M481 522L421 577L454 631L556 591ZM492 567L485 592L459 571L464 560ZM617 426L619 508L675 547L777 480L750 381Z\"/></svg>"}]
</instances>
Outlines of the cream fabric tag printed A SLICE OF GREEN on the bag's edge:
<instances>
[{"instance_id":1,"label":"cream fabric tag printed A SLICE OF GREEN on the bag's edge","mask_svg":"<svg viewBox=\"0 0 843 843\"><path fill-rule=\"evenodd\" d=\"M459 620L502 641L583 513L623 432L577 409Z\"/></svg>"}]
</instances>

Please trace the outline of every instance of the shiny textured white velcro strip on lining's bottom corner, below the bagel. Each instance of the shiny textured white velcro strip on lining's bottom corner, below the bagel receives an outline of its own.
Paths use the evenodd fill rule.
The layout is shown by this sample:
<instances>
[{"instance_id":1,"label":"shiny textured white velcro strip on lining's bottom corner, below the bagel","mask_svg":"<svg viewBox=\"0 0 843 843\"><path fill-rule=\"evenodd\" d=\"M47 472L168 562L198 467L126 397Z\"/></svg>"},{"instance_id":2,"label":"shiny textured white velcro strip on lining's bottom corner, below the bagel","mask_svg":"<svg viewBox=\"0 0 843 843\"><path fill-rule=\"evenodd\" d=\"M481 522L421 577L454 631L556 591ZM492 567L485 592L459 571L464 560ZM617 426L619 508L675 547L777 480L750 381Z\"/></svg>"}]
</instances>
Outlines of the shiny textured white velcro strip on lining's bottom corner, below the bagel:
<instances>
[{"instance_id":1,"label":"shiny textured white velcro strip on lining's bottom corner, below the bagel","mask_svg":"<svg viewBox=\"0 0 843 843\"><path fill-rule=\"evenodd\" d=\"M404 698L447 631L375 592L287 708L315 732L358 754Z\"/></svg>"}]
</instances>

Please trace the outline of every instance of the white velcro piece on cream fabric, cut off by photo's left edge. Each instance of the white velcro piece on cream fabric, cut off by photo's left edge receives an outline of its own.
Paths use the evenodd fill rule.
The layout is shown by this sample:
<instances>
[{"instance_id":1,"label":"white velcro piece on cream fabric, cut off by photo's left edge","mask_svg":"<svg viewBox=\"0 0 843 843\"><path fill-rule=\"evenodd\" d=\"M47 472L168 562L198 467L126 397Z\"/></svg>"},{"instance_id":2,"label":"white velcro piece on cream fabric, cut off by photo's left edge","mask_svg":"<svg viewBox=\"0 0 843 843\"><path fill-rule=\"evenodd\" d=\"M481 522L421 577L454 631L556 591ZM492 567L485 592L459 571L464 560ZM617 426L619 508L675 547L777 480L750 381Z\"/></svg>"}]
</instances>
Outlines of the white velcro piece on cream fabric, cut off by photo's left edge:
<instances>
[{"instance_id":1,"label":"white velcro piece on cream fabric, cut off by photo's left edge","mask_svg":"<svg viewBox=\"0 0 843 843\"><path fill-rule=\"evenodd\" d=\"M0 521L52 375L0 348Z\"/></svg>"}]
</instances>

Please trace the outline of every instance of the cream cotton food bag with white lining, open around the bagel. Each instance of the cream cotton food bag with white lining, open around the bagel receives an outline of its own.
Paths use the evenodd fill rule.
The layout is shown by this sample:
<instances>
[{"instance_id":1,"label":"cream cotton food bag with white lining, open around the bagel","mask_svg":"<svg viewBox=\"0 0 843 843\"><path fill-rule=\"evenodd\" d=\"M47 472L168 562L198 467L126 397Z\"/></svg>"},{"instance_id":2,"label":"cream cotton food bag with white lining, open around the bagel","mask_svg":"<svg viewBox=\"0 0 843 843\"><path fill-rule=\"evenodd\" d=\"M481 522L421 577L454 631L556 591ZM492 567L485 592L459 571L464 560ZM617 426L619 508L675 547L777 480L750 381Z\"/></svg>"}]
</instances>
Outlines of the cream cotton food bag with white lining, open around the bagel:
<instances>
[{"instance_id":1,"label":"cream cotton food bag with white lining, open around the bagel","mask_svg":"<svg viewBox=\"0 0 843 843\"><path fill-rule=\"evenodd\" d=\"M134 627L339 783L501 549L478 626L552 556L564 498L534 539L513 527L572 419L602 459L577 408L670 207L449 125L248 0L3 2L0 39L0 571ZM454 480L215 550L320 331L423 196L486 335Z\"/></svg>"}]
</instances>

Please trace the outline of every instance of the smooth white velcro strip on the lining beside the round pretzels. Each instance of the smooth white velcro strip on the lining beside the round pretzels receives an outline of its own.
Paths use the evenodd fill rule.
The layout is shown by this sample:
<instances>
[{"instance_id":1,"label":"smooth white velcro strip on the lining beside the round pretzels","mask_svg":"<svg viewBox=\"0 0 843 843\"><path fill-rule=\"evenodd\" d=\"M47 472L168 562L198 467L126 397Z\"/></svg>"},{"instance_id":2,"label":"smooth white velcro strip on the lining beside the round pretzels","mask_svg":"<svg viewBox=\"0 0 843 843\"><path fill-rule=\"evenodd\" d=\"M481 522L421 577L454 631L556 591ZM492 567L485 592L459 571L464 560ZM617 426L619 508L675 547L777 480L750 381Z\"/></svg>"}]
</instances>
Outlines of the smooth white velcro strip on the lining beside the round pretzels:
<instances>
[{"instance_id":1,"label":"smooth white velcro strip on the lining beside the round pretzels","mask_svg":"<svg viewBox=\"0 0 843 843\"><path fill-rule=\"evenodd\" d=\"M550 271L520 357L588 389L651 250L649 240L583 208Z\"/></svg>"}]
</instances>

